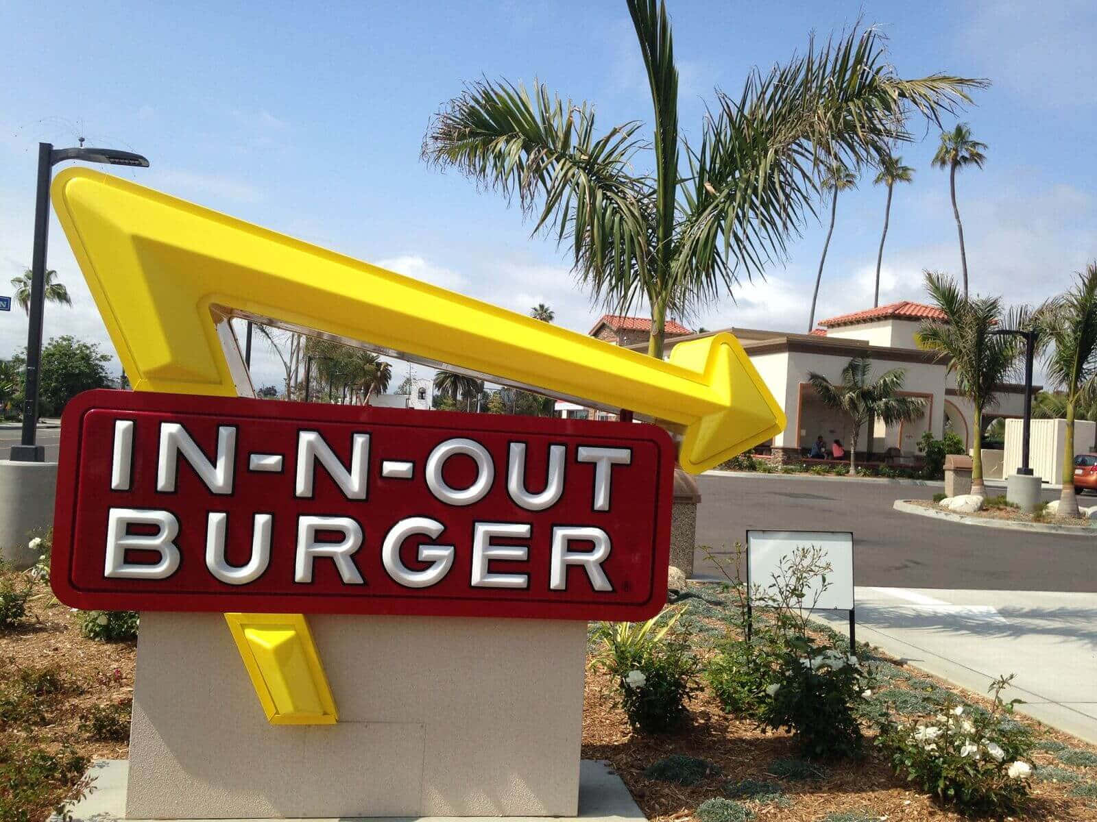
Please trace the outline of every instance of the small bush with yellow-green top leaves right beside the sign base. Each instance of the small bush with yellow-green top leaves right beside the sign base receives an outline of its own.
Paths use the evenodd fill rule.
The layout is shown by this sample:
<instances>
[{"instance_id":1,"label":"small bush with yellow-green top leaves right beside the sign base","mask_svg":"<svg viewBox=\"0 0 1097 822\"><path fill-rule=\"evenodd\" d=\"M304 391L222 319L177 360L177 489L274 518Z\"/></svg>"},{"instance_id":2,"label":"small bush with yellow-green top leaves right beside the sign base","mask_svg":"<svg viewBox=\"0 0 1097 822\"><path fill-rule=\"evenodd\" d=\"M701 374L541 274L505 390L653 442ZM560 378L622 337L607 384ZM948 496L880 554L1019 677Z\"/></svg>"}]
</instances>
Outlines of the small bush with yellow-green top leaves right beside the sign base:
<instances>
[{"instance_id":1,"label":"small bush with yellow-green top leaves right beside the sign base","mask_svg":"<svg viewBox=\"0 0 1097 822\"><path fill-rule=\"evenodd\" d=\"M668 609L646 623L603 623L596 632L601 649L595 663L617 678L621 707L634 730L674 730L698 690L699 663L686 638L671 632L680 616Z\"/></svg>"}]
</instances>

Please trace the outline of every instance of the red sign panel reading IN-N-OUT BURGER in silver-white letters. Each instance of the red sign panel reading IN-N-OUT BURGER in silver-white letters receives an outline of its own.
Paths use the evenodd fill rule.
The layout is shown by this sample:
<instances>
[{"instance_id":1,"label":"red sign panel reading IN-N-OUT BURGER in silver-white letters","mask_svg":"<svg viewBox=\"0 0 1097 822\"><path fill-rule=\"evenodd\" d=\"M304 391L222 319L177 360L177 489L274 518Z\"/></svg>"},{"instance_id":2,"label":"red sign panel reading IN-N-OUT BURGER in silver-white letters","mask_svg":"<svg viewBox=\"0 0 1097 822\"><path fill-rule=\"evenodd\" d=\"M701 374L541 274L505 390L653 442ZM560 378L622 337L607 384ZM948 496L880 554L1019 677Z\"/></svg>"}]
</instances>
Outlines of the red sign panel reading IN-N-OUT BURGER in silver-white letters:
<instances>
[{"instance_id":1,"label":"red sign panel reading IN-N-OUT BURGER in silver-white letters","mask_svg":"<svg viewBox=\"0 0 1097 822\"><path fill-rule=\"evenodd\" d=\"M654 425L89 391L50 582L80 608L638 620L672 482Z\"/></svg>"}]
</instances>

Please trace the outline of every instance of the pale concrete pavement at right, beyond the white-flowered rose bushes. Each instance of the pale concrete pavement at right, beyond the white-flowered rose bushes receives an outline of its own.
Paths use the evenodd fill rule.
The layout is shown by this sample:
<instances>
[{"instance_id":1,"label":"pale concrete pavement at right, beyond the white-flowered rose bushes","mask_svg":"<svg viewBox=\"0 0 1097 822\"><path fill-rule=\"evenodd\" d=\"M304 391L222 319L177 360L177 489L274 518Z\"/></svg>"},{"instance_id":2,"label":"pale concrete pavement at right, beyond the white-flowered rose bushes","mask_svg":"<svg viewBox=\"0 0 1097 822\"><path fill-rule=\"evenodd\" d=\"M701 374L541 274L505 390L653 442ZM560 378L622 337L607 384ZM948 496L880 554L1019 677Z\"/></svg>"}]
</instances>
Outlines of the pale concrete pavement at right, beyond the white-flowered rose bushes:
<instances>
[{"instance_id":1,"label":"pale concrete pavement at right, beyond the white-flowered rose bushes","mask_svg":"<svg viewBox=\"0 0 1097 822\"><path fill-rule=\"evenodd\" d=\"M1097 561L1097 555L1095 555ZM1079 569L1081 570L1081 569ZM1097 594L857 587L857 638L1097 744ZM824 617L846 632L845 615Z\"/></svg>"}]
</instances>

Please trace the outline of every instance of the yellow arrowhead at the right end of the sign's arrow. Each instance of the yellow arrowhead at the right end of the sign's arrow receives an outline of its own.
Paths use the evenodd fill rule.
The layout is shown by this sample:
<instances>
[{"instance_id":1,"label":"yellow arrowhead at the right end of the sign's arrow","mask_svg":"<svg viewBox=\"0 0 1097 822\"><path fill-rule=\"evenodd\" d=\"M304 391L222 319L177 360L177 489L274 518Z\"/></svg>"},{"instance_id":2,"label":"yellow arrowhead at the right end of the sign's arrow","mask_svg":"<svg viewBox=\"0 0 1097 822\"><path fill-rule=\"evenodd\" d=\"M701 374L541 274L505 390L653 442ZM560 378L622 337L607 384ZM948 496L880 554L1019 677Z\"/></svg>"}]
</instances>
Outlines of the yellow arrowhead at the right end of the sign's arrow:
<instances>
[{"instance_id":1,"label":"yellow arrowhead at the right end of the sign's arrow","mask_svg":"<svg viewBox=\"0 0 1097 822\"><path fill-rule=\"evenodd\" d=\"M784 412L732 334L679 343L670 362L703 374L725 406L686 429L678 461L690 473L715 468L784 430Z\"/></svg>"}]
</instances>

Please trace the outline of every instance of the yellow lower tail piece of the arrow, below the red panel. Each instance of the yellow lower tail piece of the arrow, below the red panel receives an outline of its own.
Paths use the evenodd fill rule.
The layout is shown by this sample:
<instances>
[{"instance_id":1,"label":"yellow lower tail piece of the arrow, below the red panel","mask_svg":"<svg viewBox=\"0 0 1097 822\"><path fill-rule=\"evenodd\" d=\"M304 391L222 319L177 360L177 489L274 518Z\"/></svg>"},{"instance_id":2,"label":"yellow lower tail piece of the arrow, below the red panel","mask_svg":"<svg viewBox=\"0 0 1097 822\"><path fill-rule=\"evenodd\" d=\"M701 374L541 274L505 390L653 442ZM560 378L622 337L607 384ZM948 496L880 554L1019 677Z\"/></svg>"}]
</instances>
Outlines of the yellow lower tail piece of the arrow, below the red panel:
<instances>
[{"instance_id":1,"label":"yellow lower tail piece of the arrow, below the red panel","mask_svg":"<svg viewBox=\"0 0 1097 822\"><path fill-rule=\"evenodd\" d=\"M272 724L332 724L335 698L302 614L225 614Z\"/></svg>"}]
</instances>

